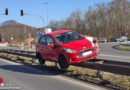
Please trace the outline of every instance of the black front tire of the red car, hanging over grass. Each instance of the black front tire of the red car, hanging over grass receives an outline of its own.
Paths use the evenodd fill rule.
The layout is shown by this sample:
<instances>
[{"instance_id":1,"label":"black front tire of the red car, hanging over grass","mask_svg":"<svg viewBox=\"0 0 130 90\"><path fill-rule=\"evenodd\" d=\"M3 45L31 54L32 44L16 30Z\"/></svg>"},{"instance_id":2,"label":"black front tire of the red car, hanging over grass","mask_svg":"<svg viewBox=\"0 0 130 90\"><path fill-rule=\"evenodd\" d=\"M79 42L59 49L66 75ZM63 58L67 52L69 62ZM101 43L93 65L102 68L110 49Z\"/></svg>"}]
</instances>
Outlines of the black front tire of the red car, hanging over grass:
<instances>
[{"instance_id":1,"label":"black front tire of the red car, hanging over grass","mask_svg":"<svg viewBox=\"0 0 130 90\"><path fill-rule=\"evenodd\" d=\"M66 70L66 69L69 67L69 64L67 63L66 58L65 58L65 56L63 56L63 55L60 55L60 56L59 56L58 63L59 63L60 68L61 68L62 70Z\"/></svg>"}]
</instances>

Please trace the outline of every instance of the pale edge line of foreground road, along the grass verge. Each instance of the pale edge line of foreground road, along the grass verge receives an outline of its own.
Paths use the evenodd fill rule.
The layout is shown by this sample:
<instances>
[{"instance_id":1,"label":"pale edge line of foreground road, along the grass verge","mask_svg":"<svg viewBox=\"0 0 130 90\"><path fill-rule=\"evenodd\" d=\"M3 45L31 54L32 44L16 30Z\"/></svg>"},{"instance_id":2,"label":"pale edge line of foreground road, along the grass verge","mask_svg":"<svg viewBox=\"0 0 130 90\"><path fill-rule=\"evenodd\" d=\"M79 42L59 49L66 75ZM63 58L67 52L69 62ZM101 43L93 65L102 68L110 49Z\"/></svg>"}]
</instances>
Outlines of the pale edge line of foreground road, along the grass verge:
<instances>
[{"instance_id":1,"label":"pale edge line of foreground road, along the grass verge","mask_svg":"<svg viewBox=\"0 0 130 90\"><path fill-rule=\"evenodd\" d=\"M5 59L1 59L1 60L3 60L4 62L10 63L10 64L14 64L14 65L24 65L24 64L20 64L20 63L11 62L11 61L8 61L8 60L5 60ZM38 70L38 69L35 69L35 68L32 68L32 67L29 67L29 66L24 66L24 67L29 68L29 69L31 68L32 70L34 70L36 72L39 72L39 73L42 73L42 74L50 74L50 73L47 73L47 72L44 72L44 71L41 71L41 70ZM65 77L63 75L51 76L51 78L62 79L64 81L67 81L67 82L70 82L70 83L74 83L74 84L77 84L77 85L81 85L81 86L84 86L86 88L91 88L93 90L107 90L107 89L102 88L100 86L84 83L84 82L81 82L79 80L74 80L72 78Z\"/></svg>"}]
</instances>

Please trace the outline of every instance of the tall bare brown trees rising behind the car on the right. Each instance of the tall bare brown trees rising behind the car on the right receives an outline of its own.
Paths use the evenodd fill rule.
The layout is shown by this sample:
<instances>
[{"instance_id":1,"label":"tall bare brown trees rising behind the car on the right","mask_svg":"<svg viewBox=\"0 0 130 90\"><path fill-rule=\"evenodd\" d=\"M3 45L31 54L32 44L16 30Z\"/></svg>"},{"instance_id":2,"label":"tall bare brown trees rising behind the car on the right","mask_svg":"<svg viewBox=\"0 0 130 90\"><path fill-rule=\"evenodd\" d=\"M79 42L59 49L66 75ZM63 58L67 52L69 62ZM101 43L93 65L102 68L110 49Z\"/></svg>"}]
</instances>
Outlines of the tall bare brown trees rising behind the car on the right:
<instances>
[{"instance_id":1,"label":"tall bare brown trees rising behind the car on the right","mask_svg":"<svg viewBox=\"0 0 130 90\"><path fill-rule=\"evenodd\" d=\"M84 15L76 10L66 20L51 22L50 26L55 30L57 27L72 29L98 38L117 38L125 32L130 37L130 2L113 0L107 4L98 4L95 9L90 7Z\"/></svg>"}]
</instances>

